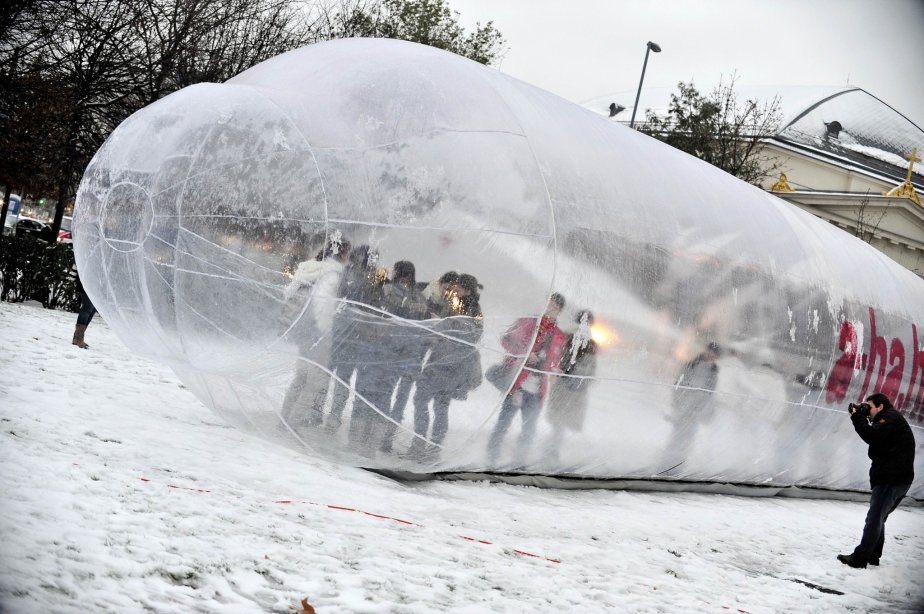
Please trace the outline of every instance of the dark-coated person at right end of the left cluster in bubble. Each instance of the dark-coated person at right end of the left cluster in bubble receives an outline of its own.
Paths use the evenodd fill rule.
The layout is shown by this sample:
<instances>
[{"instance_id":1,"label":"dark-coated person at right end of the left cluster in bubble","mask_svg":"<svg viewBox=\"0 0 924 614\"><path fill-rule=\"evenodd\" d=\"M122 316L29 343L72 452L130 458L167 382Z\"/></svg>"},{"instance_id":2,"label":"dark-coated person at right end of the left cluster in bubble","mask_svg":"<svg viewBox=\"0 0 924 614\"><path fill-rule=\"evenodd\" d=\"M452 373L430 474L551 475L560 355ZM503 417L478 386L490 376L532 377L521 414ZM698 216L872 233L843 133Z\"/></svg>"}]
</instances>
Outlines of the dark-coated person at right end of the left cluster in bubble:
<instances>
[{"instance_id":1,"label":"dark-coated person at right end of the left cluster in bubble","mask_svg":"<svg viewBox=\"0 0 924 614\"><path fill-rule=\"evenodd\" d=\"M444 275L440 279L444 279ZM449 405L463 400L481 385L481 355L478 342L484 332L481 313L481 284L474 275L458 275L457 282L443 291L440 321L435 325L426 365L417 378L414 393L414 438L406 455L416 460L433 460L449 430ZM433 432L430 411L433 411Z\"/></svg>"}]
</instances>

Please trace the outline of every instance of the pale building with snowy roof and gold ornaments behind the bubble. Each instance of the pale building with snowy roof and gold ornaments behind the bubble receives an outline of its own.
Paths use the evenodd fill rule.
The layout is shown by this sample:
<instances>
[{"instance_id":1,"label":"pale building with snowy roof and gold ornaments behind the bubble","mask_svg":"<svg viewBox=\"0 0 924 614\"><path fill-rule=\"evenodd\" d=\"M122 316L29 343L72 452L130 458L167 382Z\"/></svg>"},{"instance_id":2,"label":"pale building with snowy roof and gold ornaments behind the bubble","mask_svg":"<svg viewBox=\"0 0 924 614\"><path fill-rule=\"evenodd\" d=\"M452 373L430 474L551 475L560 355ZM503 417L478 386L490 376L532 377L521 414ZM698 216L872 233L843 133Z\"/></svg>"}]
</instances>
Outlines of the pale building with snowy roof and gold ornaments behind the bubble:
<instances>
[{"instance_id":1,"label":"pale building with snowy roof and gold ornaments behind the bubble","mask_svg":"<svg viewBox=\"0 0 924 614\"><path fill-rule=\"evenodd\" d=\"M924 277L924 131L856 87L798 106L765 145L783 176L763 187Z\"/></svg>"}]
</instances>

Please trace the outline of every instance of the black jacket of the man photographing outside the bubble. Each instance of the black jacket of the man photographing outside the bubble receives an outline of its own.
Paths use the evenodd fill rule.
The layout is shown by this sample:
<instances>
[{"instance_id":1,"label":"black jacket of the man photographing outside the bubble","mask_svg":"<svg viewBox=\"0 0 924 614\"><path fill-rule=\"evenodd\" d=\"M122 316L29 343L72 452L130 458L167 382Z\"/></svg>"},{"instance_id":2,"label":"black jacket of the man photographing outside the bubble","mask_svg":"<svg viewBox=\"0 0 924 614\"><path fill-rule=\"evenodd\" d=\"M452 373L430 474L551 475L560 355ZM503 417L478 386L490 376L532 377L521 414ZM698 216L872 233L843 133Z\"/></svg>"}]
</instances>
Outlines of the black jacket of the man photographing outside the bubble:
<instances>
[{"instance_id":1,"label":"black jacket of the man photographing outside the bubble","mask_svg":"<svg viewBox=\"0 0 924 614\"><path fill-rule=\"evenodd\" d=\"M914 434L908 421L892 407L876 414L872 424L869 414L854 412L850 419L857 434L869 444L870 486L911 484L914 481Z\"/></svg>"}]
</instances>

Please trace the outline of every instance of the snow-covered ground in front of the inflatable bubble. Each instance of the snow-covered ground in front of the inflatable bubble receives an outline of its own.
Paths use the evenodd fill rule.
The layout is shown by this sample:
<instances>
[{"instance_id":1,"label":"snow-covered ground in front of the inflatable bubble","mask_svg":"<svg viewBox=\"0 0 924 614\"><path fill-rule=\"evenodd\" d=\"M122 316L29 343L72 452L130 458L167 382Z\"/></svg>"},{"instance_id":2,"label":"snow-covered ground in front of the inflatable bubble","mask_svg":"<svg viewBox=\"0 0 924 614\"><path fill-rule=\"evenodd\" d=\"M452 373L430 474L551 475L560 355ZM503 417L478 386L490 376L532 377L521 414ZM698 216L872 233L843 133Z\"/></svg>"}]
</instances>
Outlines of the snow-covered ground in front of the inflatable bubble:
<instances>
[{"instance_id":1,"label":"snow-covered ground in front of the inflatable bubble","mask_svg":"<svg viewBox=\"0 0 924 614\"><path fill-rule=\"evenodd\" d=\"M2 612L924 611L922 507L855 570L860 502L398 483L230 428L75 318L0 303Z\"/></svg>"}]
</instances>

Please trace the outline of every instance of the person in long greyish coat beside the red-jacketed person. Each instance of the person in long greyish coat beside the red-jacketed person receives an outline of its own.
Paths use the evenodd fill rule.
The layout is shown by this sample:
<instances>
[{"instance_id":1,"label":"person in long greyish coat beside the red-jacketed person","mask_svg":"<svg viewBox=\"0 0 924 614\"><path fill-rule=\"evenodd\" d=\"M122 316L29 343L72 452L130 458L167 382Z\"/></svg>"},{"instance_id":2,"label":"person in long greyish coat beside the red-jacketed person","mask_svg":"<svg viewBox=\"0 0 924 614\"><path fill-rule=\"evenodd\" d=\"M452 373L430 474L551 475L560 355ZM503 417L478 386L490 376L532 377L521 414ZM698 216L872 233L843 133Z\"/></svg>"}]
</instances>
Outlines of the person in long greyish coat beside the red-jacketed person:
<instances>
[{"instance_id":1,"label":"person in long greyish coat beside the red-jacketed person","mask_svg":"<svg viewBox=\"0 0 924 614\"><path fill-rule=\"evenodd\" d=\"M557 466L565 431L579 433L587 415L587 391L597 370L597 343L591 338L593 314L584 309L575 318L577 330L565 342L560 373L552 378L545 418L552 428L546 461Z\"/></svg>"}]
</instances>

